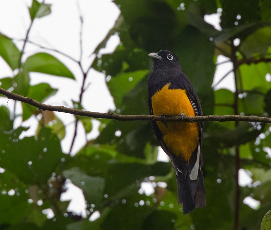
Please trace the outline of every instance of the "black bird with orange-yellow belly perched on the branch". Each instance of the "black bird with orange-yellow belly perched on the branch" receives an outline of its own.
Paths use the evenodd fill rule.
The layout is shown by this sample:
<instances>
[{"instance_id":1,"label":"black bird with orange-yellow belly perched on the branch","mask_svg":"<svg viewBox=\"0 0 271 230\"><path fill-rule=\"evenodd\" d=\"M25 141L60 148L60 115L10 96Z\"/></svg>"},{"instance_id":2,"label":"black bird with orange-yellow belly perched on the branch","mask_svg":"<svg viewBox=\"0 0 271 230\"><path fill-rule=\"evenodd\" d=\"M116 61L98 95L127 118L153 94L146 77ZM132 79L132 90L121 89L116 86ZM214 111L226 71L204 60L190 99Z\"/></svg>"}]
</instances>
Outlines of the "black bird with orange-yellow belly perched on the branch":
<instances>
[{"instance_id":1,"label":"black bird with orange-yellow belly perched on the branch","mask_svg":"<svg viewBox=\"0 0 271 230\"><path fill-rule=\"evenodd\" d=\"M198 95L183 73L178 57L168 50L150 53L148 105L154 133L169 156L177 179L178 204L187 214L206 205L203 177L202 133L204 122L166 122L166 116L203 116Z\"/></svg>"}]
</instances>

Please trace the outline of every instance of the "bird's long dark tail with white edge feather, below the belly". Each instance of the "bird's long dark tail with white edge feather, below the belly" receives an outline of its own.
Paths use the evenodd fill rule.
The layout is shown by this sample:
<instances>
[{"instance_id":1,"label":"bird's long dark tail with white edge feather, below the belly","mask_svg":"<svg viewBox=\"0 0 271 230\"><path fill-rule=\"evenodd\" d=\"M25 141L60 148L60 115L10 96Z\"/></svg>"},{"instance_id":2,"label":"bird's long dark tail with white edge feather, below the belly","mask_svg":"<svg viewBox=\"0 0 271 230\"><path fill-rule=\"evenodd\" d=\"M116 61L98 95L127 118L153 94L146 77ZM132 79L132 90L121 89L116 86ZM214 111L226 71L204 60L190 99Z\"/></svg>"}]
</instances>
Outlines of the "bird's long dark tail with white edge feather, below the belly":
<instances>
[{"instance_id":1,"label":"bird's long dark tail with white edge feather, below the belly","mask_svg":"<svg viewBox=\"0 0 271 230\"><path fill-rule=\"evenodd\" d=\"M188 165L181 158L171 155L177 179L178 204L183 205L183 213L187 214L195 208L204 207L206 202L200 147L195 149Z\"/></svg>"}]
</instances>

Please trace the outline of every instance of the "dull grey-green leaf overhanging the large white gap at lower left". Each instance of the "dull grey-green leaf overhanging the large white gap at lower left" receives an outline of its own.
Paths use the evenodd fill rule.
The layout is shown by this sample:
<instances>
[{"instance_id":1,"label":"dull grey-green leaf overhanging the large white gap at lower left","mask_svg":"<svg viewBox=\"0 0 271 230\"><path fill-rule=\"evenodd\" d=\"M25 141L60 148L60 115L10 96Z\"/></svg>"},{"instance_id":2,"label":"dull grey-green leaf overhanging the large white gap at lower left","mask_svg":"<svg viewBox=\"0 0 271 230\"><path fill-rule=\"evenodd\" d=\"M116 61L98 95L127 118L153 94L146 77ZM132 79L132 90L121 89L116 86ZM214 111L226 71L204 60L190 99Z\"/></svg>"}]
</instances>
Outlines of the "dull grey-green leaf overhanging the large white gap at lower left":
<instances>
[{"instance_id":1,"label":"dull grey-green leaf overhanging the large white gap at lower left","mask_svg":"<svg viewBox=\"0 0 271 230\"><path fill-rule=\"evenodd\" d=\"M71 168L63 171L63 176L80 187L89 204L99 204L104 196L105 180L102 177L86 175L80 168Z\"/></svg>"}]
</instances>

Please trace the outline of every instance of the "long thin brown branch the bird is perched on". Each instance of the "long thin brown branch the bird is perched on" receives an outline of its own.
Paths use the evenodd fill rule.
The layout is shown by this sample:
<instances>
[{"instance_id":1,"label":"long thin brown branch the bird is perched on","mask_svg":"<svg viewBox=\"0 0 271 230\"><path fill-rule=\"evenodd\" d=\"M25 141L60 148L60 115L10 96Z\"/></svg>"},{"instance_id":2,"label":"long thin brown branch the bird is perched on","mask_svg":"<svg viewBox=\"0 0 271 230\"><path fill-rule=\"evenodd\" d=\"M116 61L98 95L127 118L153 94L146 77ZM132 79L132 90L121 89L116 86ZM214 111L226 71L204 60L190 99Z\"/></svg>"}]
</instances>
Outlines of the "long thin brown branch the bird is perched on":
<instances>
[{"instance_id":1,"label":"long thin brown branch the bird is perched on","mask_svg":"<svg viewBox=\"0 0 271 230\"><path fill-rule=\"evenodd\" d=\"M71 109L64 106L50 106L43 103L40 103L32 98L24 97L18 95L16 93L9 92L5 89L0 87L0 93L5 95L7 98L21 101L26 104L32 105L37 107L40 110L48 110L48 111L55 111L55 112L63 112L69 113L78 116L86 116L92 118L106 118L112 120L119 120L119 121L134 121L134 120L155 120L155 121L166 121L166 122L173 122L173 121L184 121L184 122L200 122L200 121L247 121L247 122L262 122L262 123L271 123L271 118L269 117L258 117L258 116L240 116L240 115L225 115L225 116L167 116L164 120L161 116L153 116L153 115L123 115L123 114L115 114L115 113L98 113L98 112L89 112L84 110L78 109Z\"/></svg>"}]
</instances>

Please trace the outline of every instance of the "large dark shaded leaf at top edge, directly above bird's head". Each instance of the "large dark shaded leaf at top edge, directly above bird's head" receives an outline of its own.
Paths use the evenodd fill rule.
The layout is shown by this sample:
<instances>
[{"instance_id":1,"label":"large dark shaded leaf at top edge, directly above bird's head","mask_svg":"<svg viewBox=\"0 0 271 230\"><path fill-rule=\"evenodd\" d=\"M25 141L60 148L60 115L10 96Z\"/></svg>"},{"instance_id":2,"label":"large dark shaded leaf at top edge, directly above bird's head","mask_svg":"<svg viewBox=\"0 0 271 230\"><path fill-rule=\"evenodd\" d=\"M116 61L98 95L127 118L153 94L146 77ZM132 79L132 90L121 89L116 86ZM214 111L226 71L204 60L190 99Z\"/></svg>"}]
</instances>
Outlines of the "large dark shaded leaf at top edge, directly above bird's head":
<instances>
[{"instance_id":1,"label":"large dark shaded leaf at top edge, directly above bird's head","mask_svg":"<svg viewBox=\"0 0 271 230\"><path fill-rule=\"evenodd\" d=\"M154 52L161 47L173 47L180 29L177 7L173 9L165 1L117 0L115 3L121 7L130 37L138 48Z\"/></svg>"}]
</instances>

